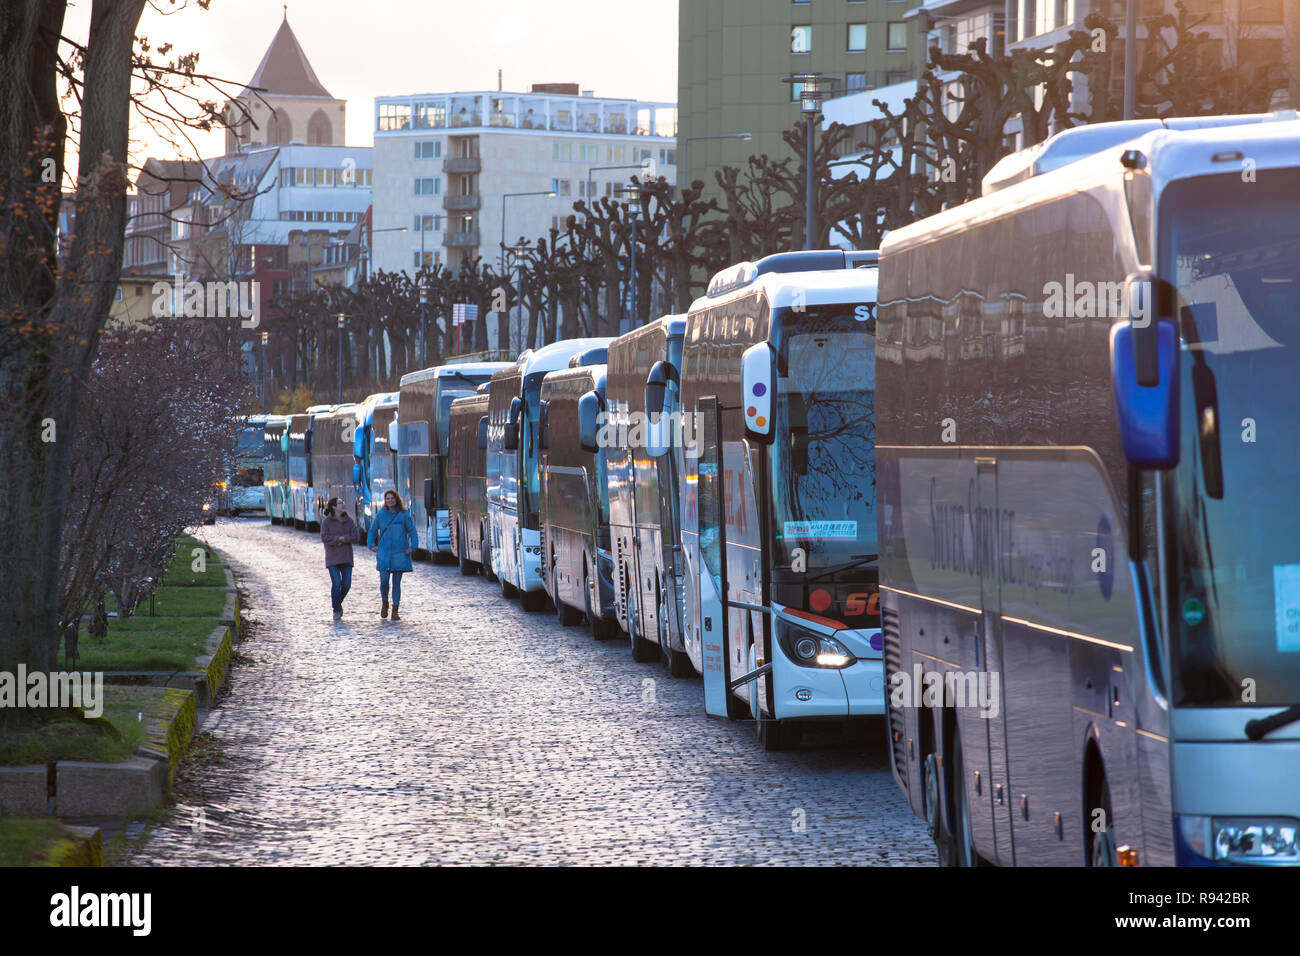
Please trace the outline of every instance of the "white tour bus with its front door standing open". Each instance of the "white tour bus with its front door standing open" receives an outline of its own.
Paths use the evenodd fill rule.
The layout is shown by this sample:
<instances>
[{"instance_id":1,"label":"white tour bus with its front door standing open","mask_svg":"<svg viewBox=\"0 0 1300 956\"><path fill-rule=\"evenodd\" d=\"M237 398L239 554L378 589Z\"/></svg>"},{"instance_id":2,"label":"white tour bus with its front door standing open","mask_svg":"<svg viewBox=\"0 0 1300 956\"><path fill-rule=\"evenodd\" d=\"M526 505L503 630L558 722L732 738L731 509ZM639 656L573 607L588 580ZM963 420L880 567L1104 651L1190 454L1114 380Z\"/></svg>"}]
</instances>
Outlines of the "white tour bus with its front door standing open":
<instances>
[{"instance_id":1,"label":"white tour bus with its front door standing open","mask_svg":"<svg viewBox=\"0 0 1300 956\"><path fill-rule=\"evenodd\" d=\"M754 718L768 749L884 710L875 258L742 263L686 317L685 646L707 711Z\"/></svg>"}]
</instances>

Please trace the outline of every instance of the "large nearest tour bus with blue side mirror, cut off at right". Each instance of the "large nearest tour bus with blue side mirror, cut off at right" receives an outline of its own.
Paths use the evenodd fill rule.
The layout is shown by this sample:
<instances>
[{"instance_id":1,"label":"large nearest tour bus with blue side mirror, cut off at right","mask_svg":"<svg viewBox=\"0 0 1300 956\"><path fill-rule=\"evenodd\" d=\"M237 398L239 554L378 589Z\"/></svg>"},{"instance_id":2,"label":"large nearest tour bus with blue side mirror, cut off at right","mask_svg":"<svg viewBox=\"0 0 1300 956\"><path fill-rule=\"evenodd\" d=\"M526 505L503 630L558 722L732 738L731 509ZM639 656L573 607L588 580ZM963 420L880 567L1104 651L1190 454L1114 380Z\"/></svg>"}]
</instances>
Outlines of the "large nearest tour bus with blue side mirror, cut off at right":
<instances>
[{"instance_id":1,"label":"large nearest tour bus with blue side mirror, cut off at right","mask_svg":"<svg viewBox=\"0 0 1300 956\"><path fill-rule=\"evenodd\" d=\"M1300 864L1297 287L1280 117L1061 133L883 243L889 741L941 861Z\"/></svg>"}]
</instances>

